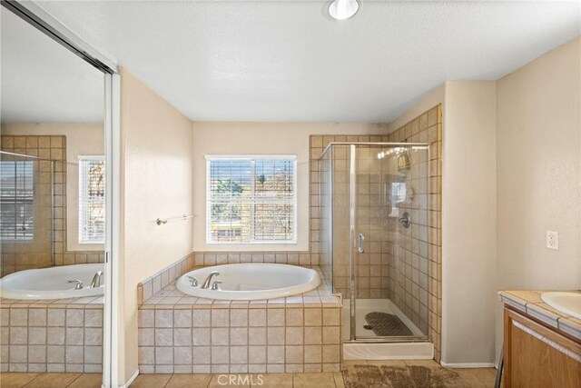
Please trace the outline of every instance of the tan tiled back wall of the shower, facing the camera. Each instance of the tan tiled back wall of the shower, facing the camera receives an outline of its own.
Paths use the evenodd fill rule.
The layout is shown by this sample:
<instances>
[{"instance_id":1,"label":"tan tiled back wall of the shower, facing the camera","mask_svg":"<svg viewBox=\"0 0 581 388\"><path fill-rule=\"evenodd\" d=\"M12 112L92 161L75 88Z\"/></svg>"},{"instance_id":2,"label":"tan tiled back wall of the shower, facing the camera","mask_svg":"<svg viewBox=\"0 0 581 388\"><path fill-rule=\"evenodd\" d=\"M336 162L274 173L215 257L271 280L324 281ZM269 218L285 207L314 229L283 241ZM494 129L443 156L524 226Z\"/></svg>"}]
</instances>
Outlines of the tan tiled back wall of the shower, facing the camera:
<instances>
[{"instance_id":1,"label":"tan tiled back wall of the shower, facing the camera","mask_svg":"<svg viewBox=\"0 0 581 388\"><path fill-rule=\"evenodd\" d=\"M350 147L336 145L329 151L332 165L327 162L318 163L320 154L331 142L379 143L381 136L310 136L310 171L311 171L311 229L317 228L320 240L320 267L327 276L325 269L330 267L330 249L333 256L333 287L344 298L350 297ZM377 154L378 148L362 148L357 150L357 190L358 190L358 233L366 237L365 253L358 255L356 267L358 298L387 298L388 266L383 260L381 233L381 175L382 164L372 154ZM326 155L327 157L327 155ZM322 170L319 174L319 168ZM333 171L330 182L330 169ZM319 180L323 182L319 193ZM319 204L319 195L325 201ZM332 200L332 209L329 207ZM320 206L320 207L319 207ZM329 218L332 211L332 243L330 242ZM328 280L329 282L329 280Z\"/></svg>"}]
</instances>

